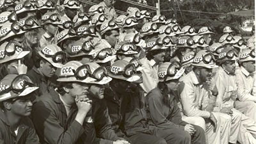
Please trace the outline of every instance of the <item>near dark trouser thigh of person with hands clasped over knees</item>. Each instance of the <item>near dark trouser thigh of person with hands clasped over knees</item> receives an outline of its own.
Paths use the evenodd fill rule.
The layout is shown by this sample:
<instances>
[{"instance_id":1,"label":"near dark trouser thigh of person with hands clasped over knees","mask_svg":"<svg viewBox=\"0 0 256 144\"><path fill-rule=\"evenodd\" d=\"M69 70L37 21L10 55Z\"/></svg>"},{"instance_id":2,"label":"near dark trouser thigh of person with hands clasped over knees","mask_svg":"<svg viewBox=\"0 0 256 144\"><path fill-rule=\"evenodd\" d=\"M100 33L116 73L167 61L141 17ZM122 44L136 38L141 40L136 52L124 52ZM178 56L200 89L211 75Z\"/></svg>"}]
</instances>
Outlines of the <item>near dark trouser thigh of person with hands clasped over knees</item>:
<instances>
[{"instance_id":1,"label":"near dark trouser thigh of person with hands clasped over knees","mask_svg":"<svg viewBox=\"0 0 256 144\"><path fill-rule=\"evenodd\" d=\"M164 138L167 144L191 144L191 136L180 128L157 129L155 135Z\"/></svg>"}]
</instances>

